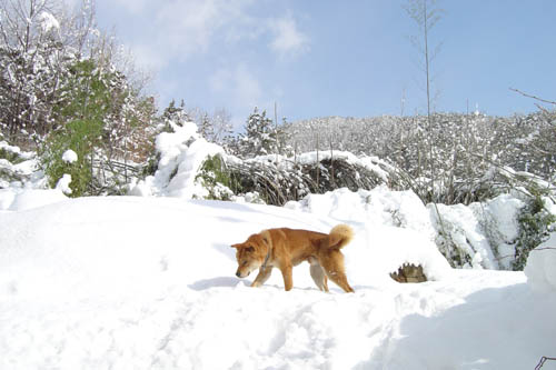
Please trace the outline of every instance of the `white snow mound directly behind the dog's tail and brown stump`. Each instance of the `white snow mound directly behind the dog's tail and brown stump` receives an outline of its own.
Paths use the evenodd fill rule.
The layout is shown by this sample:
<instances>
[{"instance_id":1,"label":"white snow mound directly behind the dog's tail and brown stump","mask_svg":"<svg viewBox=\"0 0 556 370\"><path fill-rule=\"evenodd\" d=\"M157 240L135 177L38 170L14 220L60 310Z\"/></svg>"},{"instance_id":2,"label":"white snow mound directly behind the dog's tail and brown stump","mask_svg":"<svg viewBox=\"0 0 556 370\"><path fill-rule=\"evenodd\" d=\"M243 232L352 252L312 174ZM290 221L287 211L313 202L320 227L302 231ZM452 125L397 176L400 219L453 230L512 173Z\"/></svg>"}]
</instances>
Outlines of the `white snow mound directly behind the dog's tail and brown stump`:
<instances>
[{"instance_id":1,"label":"white snow mound directly behind the dog's tail and brown stump","mask_svg":"<svg viewBox=\"0 0 556 370\"><path fill-rule=\"evenodd\" d=\"M386 187L353 192L338 189L309 194L285 208L322 214L355 224L361 240L361 254L348 264L357 271L371 270L375 279L388 277L405 263L420 264L428 279L441 279L449 264L433 242L435 230L428 211L411 191L390 191Z\"/></svg>"}]
</instances>

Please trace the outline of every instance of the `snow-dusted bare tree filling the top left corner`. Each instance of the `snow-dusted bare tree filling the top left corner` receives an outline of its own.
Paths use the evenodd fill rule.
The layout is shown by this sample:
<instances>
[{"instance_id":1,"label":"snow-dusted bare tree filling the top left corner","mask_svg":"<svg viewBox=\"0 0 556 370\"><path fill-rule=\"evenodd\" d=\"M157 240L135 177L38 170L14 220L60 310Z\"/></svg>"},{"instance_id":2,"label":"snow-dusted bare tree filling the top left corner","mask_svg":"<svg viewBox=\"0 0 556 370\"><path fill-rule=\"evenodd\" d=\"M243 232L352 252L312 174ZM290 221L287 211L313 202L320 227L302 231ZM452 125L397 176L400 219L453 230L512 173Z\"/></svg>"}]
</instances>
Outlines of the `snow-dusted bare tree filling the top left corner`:
<instances>
[{"instance_id":1,"label":"snow-dusted bare tree filling the top left corner","mask_svg":"<svg viewBox=\"0 0 556 370\"><path fill-rule=\"evenodd\" d=\"M76 14L61 0L0 3L0 123L11 141L41 140L54 128L71 64L91 34L93 9Z\"/></svg>"}]
</instances>

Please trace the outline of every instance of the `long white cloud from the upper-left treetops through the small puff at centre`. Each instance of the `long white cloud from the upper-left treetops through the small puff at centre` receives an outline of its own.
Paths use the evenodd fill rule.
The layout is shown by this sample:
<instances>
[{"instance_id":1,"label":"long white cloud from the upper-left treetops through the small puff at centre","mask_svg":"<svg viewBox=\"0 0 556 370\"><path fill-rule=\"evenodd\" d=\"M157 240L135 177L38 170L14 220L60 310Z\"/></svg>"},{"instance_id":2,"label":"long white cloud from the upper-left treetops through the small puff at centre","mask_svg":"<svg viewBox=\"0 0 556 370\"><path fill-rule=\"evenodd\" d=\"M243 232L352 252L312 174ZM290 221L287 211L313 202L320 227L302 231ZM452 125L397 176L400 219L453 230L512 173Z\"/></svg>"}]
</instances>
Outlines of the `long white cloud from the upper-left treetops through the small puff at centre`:
<instances>
[{"instance_id":1,"label":"long white cloud from the upper-left treetops through the small puff at centre","mask_svg":"<svg viewBox=\"0 0 556 370\"><path fill-rule=\"evenodd\" d=\"M252 16L254 0L116 1L137 22L145 23L129 44L140 60L156 68L209 52L218 40L229 44L247 40L256 44L269 36L269 50L280 57L306 51L309 43L291 14Z\"/></svg>"}]
</instances>

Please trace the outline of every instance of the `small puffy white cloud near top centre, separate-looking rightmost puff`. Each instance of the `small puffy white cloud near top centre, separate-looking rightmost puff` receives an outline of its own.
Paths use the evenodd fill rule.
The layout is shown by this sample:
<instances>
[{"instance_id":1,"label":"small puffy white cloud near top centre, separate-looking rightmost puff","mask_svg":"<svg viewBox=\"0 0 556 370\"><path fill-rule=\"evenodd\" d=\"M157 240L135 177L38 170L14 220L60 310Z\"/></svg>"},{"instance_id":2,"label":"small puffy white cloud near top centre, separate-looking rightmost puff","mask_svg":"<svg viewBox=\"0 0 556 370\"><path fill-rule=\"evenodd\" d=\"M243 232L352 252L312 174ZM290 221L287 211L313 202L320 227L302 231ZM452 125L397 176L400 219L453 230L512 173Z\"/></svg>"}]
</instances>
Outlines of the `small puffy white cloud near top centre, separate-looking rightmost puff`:
<instances>
[{"instance_id":1,"label":"small puffy white cloud near top centre, separate-looking rightmost puff","mask_svg":"<svg viewBox=\"0 0 556 370\"><path fill-rule=\"evenodd\" d=\"M274 33L270 48L280 56L307 50L309 38L298 30L291 14L272 20L270 22L270 30Z\"/></svg>"}]
</instances>

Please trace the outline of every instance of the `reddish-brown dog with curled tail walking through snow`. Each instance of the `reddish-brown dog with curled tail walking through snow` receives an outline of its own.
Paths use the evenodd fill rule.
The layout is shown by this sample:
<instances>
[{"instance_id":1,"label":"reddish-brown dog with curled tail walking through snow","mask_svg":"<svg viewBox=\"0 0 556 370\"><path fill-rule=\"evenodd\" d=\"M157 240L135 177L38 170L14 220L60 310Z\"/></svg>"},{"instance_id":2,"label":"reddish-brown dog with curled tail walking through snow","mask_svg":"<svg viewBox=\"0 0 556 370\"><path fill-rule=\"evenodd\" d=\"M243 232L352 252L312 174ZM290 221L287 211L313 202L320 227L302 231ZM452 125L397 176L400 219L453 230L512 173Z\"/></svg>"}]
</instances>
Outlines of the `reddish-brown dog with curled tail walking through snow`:
<instances>
[{"instance_id":1,"label":"reddish-brown dog with curled tail walking through snow","mask_svg":"<svg viewBox=\"0 0 556 370\"><path fill-rule=\"evenodd\" d=\"M268 229L254 233L236 248L238 278L246 278L259 269L251 287L262 286L272 268L278 268L284 277L286 291L294 286L291 270L304 261L310 264L310 274L317 288L328 292L328 280L334 281L346 292L354 292L344 268L344 254L340 249L354 238L353 229L338 224L328 234L322 232L288 228Z\"/></svg>"}]
</instances>

